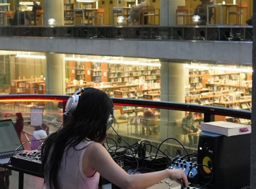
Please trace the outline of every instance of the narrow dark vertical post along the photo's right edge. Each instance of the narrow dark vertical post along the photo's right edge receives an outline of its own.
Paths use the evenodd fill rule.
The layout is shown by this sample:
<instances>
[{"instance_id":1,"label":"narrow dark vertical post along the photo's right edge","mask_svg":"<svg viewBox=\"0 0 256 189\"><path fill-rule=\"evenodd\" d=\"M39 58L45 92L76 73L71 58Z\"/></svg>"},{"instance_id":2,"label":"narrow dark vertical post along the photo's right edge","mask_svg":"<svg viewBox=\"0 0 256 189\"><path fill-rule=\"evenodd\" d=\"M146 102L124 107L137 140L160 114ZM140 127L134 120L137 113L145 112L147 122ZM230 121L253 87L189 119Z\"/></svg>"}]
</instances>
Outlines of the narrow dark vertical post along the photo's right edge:
<instances>
[{"instance_id":1,"label":"narrow dark vertical post along the photo's right edge","mask_svg":"<svg viewBox=\"0 0 256 189\"><path fill-rule=\"evenodd\" d=\"M253 27L256 28L256 0L253 1ZM256 188L256 30L253 30L253 41L252 43L252 70L254 70L252 74L252 133L251 133L251 187L250 188Z\"/></svg>"}]
</instances>

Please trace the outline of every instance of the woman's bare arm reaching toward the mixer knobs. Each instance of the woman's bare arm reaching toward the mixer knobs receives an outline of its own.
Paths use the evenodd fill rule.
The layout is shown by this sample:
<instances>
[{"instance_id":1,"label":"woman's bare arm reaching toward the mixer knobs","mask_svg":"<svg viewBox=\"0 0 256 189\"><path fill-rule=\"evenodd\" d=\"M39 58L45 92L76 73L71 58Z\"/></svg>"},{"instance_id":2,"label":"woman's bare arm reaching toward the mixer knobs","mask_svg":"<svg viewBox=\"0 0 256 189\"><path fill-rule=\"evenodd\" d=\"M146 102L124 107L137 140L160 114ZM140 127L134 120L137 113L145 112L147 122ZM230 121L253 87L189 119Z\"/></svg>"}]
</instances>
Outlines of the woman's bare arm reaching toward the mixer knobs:
<instances>
[{"instance_id":1,"label":"woman's bare arm reaching toward the mixer knobs","mask_svg":"<svg viewBox=\"0 0 256 189\"><path fill-rule=\"evenodd\" d=\"M188 185L187 177L181 169L129 175L113 161L107 150L97 142L93 142L87 147L83 158L83 170L85 175L91 170L96 170L108 181L123 189L148 188L168 177L180 184Z\"/></svg>"}]
</instances>

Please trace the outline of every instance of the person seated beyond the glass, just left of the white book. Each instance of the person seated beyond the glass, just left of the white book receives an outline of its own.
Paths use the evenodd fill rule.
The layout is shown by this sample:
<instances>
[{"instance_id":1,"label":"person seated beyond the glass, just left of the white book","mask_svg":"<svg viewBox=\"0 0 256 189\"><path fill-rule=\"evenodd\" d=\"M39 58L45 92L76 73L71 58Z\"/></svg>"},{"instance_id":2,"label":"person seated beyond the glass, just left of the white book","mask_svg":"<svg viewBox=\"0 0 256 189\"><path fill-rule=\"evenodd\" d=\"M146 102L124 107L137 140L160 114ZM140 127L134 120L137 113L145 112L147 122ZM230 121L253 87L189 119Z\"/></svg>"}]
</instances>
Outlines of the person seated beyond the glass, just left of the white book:
<instances>
[{"instance_id":1,"label":"person seated beyond the glass, just left of the white book","mask_svg":"<svg viewBox=\"0 0 256 189\"><path fill-rule=\"evenodd\" d=\"M183 128L183 132L185 135L190 133L196 133L198 129L194 126L194 118L193 118L193 112L189 112L187 116L183 118L181 127ZM188 135L188 139L190 141L190 145L193 144L192 136Z\"/></svg>"}]
</instances>

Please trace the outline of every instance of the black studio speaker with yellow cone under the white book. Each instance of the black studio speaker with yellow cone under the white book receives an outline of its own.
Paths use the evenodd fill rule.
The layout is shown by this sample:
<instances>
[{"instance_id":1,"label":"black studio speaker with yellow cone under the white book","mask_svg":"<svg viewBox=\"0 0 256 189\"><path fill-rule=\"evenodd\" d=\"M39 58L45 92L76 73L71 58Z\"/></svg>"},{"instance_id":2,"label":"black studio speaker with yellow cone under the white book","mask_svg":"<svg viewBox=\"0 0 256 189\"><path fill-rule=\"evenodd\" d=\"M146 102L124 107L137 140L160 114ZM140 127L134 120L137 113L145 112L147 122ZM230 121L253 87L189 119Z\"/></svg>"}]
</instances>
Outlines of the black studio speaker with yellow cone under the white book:
<instances>
[{"instance_id":1,"label":"black studio speaker with yellow cone under the white book","mask_svg":"<svg viewBox=\"0 0 256 189\"><path fill-rule=\"evenodd\" d=\"M250 184L251 133L224 136L201 131L197 152L199 184L211 189L242 188ZM207 165L200 166L199 164Z\"/></svg>"}]
</instances>

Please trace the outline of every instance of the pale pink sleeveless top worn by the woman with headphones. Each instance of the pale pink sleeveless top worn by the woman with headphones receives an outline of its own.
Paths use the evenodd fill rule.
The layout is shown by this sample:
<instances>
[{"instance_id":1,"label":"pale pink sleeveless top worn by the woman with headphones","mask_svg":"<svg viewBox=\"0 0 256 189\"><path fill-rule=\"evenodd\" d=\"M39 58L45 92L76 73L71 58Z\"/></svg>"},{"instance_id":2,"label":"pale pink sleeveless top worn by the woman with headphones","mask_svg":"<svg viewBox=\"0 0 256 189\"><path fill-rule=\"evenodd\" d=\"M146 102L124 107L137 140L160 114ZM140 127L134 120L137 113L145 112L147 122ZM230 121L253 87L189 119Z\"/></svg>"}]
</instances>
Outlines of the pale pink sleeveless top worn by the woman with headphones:
<instances>
[{"instance_id":1,"label":"pale pink sleeveless top worn by the woman with headphones","mask_svg":"<svg viewBox=\"0 0 256 189\"><path fill-rule=\"evenodd\" d=\"M74 148L70 148L62 157L58 180L60 189L97 189L100 174L96 172L93 177L87 178L82 170L82 158L85 150L93 141L82 141ZM47 188L47 185L46 185Z\"/></svg>"}]
</instances>

